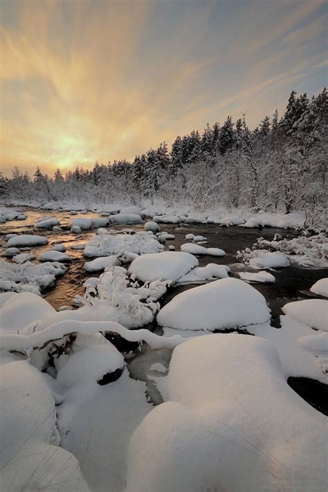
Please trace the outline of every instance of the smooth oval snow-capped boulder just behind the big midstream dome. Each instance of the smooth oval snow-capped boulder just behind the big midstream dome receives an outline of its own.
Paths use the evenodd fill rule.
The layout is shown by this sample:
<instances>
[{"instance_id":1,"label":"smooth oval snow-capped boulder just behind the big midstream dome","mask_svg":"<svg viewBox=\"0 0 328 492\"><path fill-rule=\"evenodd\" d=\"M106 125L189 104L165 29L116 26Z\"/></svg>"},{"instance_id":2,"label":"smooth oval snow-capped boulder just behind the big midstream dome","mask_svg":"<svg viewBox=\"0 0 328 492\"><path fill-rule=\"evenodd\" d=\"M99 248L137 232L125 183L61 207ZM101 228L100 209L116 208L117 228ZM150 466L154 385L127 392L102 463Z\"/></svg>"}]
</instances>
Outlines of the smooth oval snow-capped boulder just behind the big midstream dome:
<instances>
[{"instance_id":1,"label":"smooth oval snow-capped boulder just behind the big midstream dome","mask_svg":"<svg viewBox=\"0 0 328 492\"><path fill-rule=\"evenodd\" d=\"M143 282L160 279L175 283L195 266L198 266L198 259L189 253L163 251L134 259L129 274Z\"/></svg>"}]
</instances>

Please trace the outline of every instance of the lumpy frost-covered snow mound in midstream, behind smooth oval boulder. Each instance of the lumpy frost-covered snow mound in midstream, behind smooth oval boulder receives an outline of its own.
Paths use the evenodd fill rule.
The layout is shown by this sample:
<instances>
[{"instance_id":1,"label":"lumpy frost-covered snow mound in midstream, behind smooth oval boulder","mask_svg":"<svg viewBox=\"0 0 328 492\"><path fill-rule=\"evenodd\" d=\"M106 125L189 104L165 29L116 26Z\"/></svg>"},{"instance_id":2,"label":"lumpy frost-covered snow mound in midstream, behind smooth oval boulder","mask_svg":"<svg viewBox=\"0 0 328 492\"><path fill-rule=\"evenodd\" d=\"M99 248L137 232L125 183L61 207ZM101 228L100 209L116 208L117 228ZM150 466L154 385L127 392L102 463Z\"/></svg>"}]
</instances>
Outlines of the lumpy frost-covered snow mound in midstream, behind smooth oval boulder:
<instances>
[{"instance_id":1,"label":"lumpy frost-covered snow mound in midstream, behind smooth oval boulder","mask_svg":"<svg viewBox=\"0 0 328 492\"><path fill-rule=\"evenodd\" d=\"M149 235L144 231L134 235L107 233L95 235L91 238L86 245L84 255L89 257L109 255L127 257L131 253L144 255L146 253L157 253L163 249L164 247L154 235Z\"/></svg>"}]
</instances>

